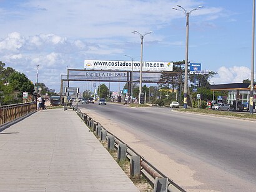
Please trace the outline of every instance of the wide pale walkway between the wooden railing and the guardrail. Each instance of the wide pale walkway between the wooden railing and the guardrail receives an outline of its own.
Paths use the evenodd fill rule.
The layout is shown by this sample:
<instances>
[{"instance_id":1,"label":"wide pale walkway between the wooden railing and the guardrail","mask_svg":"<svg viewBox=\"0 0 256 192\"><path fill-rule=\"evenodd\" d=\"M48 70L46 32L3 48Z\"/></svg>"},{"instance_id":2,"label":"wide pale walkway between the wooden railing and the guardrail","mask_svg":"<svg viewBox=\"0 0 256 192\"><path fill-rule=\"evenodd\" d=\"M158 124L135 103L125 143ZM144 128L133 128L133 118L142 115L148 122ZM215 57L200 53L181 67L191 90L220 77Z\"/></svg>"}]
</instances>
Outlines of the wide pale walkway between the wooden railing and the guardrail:
<instances>
[{"instance_id":1,"label":"wide pale walkway between the wooden railing and the guardrail","mask_svg":"<svg viewBox=\"0 0 256 192\"><path fill-rule=\"evenodd\" d=\"M0 191L139 191L75 111L47 109L0 132Z\"/></svg>"}]
</instances>

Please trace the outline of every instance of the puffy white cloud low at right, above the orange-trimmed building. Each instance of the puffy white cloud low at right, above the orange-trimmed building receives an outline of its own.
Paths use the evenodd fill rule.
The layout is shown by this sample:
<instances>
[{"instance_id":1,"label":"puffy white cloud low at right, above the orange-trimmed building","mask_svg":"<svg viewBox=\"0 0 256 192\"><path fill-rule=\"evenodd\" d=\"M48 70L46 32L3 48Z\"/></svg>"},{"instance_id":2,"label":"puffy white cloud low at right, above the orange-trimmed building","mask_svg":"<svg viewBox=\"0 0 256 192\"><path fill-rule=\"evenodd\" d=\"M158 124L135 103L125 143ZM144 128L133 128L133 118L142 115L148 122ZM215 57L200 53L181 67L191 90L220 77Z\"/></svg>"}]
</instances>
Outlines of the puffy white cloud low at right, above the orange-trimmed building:
<instances>
[{"instance_id":1,"label":"puffy white cloud low at right, above the orange-trimmed building","mask_svg":"<svg viewBox=\"0 0 256 192\"><path fill-rule=\"evenodd\" d=\"M222 66L217 70L217 75L210 79L210 83L242 83L243 80L250 79L250 69L245 66L233 66L227 68Z\"/></svg>"}]
</instances>

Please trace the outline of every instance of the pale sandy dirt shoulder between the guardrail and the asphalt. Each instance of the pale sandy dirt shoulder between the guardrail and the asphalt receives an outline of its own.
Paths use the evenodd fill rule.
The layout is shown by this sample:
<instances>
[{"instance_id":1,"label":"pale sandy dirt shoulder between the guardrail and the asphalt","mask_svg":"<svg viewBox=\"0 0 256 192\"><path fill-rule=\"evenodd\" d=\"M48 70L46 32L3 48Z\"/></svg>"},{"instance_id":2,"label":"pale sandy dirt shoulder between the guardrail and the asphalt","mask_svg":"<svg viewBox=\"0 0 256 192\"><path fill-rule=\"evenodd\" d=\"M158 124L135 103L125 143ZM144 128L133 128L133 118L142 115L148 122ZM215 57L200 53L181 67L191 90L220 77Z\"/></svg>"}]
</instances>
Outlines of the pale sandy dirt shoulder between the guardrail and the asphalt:
<instances>
[{"instance_id":1,"label":"pale sandy dirt shoulder between the guardrail and the asphalt","mask_svg":"<svg viewBox=\"0 0 256 192\"><path fill-rule=\"evenodd\" d=\"M111 121L110 119L98 116L96 113L90 111L89 109L81 110L82 112L92 117L94 121L100 122L101 125L104 126L109 132L116 135L116 137L119 137L119 139L124 141L127 145L129 145L129 147L142 155L142 157L149 160L152 165L157 167L171 180L174 180L175 183L177 183L178 185L186 186L186 188L189 188L190 191L192 191L193 188L204 185L203 183L195 180L194 170L191 170L187 165L178 163L175 160L170 159L168 155L169 152L161 153L161 150L155 150L155 147L159 147L159 149L162 148L162 146L160 146L162 144L159 144L159 141L157 139L148 137L145 134L142 137L141 135L143 134L140 134L140 137L138 137L138 134L126 129L126 126L124 125L120 125L116 122ZM147 140L151 141L151 145L147 144ZM175 153L175 150L172 150L172 153ZM204 190L201 189L200 191Z\"/></svg>"}]
</instances>

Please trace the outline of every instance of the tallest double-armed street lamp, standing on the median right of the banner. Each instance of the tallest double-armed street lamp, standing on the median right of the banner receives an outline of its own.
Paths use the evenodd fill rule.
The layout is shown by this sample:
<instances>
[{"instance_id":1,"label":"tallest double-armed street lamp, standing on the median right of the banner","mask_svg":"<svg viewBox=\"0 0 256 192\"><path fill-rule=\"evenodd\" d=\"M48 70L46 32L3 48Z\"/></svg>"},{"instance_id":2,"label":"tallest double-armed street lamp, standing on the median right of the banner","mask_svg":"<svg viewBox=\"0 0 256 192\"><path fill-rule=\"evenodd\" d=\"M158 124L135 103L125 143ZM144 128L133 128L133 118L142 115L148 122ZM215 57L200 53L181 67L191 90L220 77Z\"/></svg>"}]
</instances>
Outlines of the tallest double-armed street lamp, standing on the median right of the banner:
<instances>
[{"instance_id":1,"label":"tallest double-armed street lamp, standing on the median right of the banner","mask_svg":"<svg viewBox=\"0 0 256 192\"><path fill-rule=\"evenodd\" d=\"M183 11L185 13L185 16L187 18L186 23L186 49L185 49L185 82L184 82L184 109L187 109L187 68L188 68L188 62L189 62L189 16L192 11L199 10L200 8L204 6L199 6L195 9L192 9L190 11L185 10L182 6L177 5L180 9L174 7L172 9L177 11Z\"/></svg>"}]
</instances>

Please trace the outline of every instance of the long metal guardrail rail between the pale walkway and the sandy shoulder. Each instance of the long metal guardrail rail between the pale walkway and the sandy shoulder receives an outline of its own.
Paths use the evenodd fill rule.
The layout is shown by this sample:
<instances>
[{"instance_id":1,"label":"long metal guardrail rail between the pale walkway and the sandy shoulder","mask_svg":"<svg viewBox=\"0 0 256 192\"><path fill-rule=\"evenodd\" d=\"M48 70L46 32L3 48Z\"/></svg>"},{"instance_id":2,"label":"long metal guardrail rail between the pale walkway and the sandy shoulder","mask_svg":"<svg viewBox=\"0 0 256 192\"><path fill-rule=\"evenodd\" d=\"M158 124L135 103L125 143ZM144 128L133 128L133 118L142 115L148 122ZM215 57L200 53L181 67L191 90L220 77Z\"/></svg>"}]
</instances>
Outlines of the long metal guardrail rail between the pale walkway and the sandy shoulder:
<instances>
[{"instance_id":1,"label":"long metal guardrail rail between the pale walkway and the sandy shoulder","mask_svg":"<svg viewBox=\"0 0 256 192\"><path fill-rule=\"evenodd\" d=\"M73 110L76 110L76 107L73 107ZM107 129L105 129L99 122L94 121L91 117L89 117L87 114L82 113L79 109L76 110L77 114L79 115L79 117L81 117L81 119L89 126L89 122L93 121L94 125L100 125L102 129L106 130L107 132L107 137L109 137L109 135L114 135L111 132L109 132ZM90 126L89 126L90 127ZM122 142L121 139L119 139L118 137L115 137L115 147L117 148L117 145L119 144L125 144L124 142ZM141 155L139 155L139 153L135 152L135 150L133 150L131 147L129 147L129 145L127 145L127 158L131 158L132 156L136 155L140 157L140 166L141 166L141 172L142 174L154 185L155 184L155 180L157 178L167 178L167 176L165 176L163 173L161 173L159 170L157 170L157 168L155 168L153 165L151 165L147 160L145 160L144 157L142 157ZM184 189L182 189L179 185L177 185L176 183L174 183L174 181L170 180L168 178L168 184L167 184L167 190L169 192L185 192Z\"/></svg>"}]
</instances>

